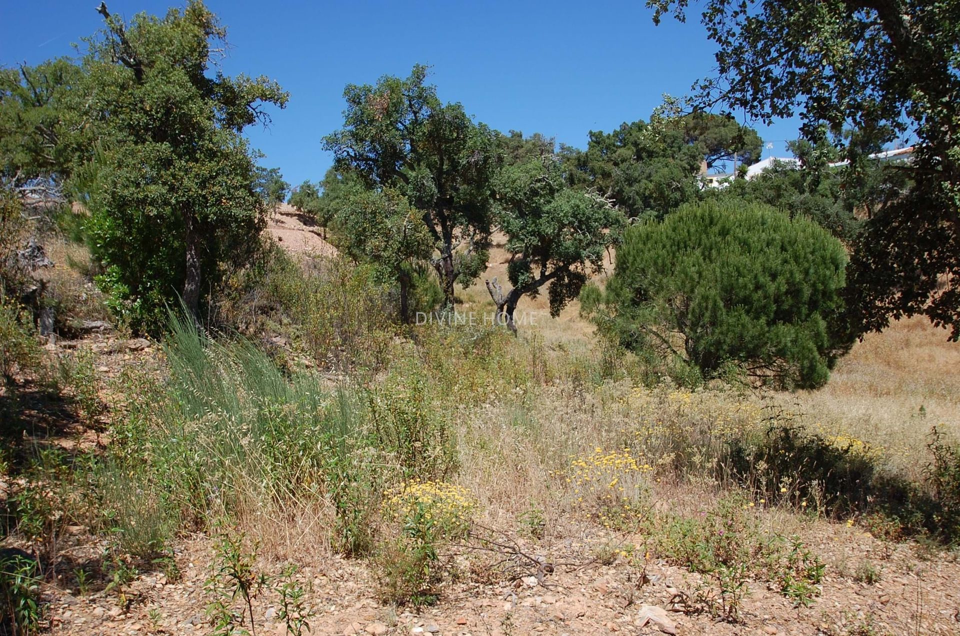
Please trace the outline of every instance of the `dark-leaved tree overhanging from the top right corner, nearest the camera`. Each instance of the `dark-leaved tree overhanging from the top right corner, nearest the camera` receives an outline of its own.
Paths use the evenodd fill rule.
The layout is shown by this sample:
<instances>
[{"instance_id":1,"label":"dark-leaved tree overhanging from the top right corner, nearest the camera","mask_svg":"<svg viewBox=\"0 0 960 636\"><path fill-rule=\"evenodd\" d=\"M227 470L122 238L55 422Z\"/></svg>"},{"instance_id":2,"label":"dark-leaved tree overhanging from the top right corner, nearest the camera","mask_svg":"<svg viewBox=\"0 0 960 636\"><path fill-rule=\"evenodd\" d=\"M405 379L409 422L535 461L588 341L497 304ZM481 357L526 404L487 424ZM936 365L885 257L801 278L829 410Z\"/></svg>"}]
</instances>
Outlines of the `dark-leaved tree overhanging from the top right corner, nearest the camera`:
<instances>
[{"instance_id":1,"label":"dark-leaved tree overhanging from the top right corner, nearest the camera","mask_svg":"<svg viewBox=\"0 0 960 636\"><path fill-rule=\"evenodd\" d=\"M648 0L684 20L687 0ZM876 212L853 248L853 316L865 330L925 315L960 339L960 4L933 0L708 0L718 48L703 106L770 123L799 113L856 168L862 144L915 139L908 196ZM947 281L942 285L942 281Z\"/></svg>"}]
</instances>

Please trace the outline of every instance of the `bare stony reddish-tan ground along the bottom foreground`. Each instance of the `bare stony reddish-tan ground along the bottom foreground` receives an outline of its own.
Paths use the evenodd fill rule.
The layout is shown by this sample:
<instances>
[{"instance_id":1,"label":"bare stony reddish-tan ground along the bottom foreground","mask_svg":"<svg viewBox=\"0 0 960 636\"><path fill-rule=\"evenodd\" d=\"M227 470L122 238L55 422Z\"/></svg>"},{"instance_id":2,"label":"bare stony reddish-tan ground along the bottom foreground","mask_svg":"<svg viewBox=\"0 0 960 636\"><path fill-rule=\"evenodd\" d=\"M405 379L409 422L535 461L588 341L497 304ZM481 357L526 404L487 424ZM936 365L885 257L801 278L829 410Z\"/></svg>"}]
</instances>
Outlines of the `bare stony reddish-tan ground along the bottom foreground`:
<instances>
[{"instance_id":1,"label":"bare stony reddish-tan ground along the bottom foreground","mask_svg":"<svg viewBox=\"0 0 960 636\"><path fill-rule=\"evenodd\" d=\"M577 540L540 546L557 562L555 572L480 584L464 580L444 591L442 601L420 610L383 605L372 598L371 573L359 561L329 557L304 567L298 578L315 613L310 634L956 634L960 567L939 557L919 560L907 546L882 558L878 542L846 528L834 529L817 548L825 554L872 555L882 568L874 584L854 582L828 569L821 597L810 607L795 608L776 590L751 582L738 623L718 623L706 614L684 613L684 592L698 577L658 562L645 573L625 562L592 562L588 546L606 537L582 533ZM815 546L816 547L816 546ZM537 548L530 546L531 549ZM203 538L183 541L177 549L181 577L172 581L157 572L137 577L122 597L98 591L51 589L54 633L62 634L198 634L208 633L204 607L209 601L210 547ZM880 560L882 559L882 560ZM276 599L253 601L256 633L286 633ZM874 631L869 631L869 629Z\"/></svg>"}]
</instances>

